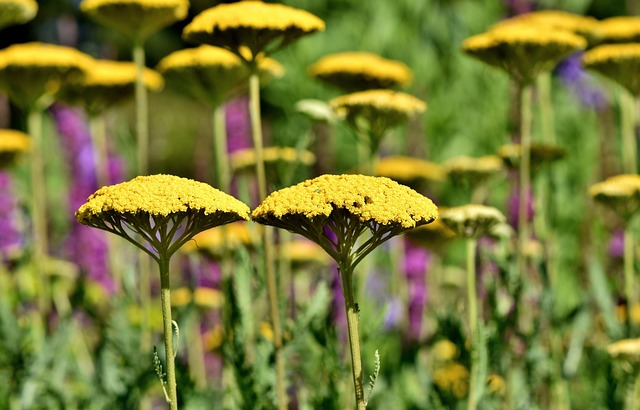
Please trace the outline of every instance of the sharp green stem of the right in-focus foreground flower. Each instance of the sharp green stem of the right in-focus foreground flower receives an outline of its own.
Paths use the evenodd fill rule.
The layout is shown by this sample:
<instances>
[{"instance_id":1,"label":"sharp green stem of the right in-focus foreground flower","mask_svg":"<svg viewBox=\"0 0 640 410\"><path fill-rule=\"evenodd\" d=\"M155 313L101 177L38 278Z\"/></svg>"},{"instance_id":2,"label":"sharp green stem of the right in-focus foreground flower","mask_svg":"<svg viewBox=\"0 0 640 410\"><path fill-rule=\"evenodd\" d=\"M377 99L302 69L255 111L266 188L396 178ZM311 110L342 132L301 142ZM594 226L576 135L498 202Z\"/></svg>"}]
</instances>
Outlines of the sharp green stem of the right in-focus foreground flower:
<instances>
[{"instance_id":1,"label":"sharp green stem of the right in-focus foreground flower","mask_svg":"<svg viewBox=\"0 0 640 410\"><path fill-rule=\"evenodd\" d=\"M367 408L364 397L364 380L362 375L362 357L360 355L360 331L358 330L359 314L353 294L353 269L349 266L340 267L342 278L342 293L344 294L347 310L347 328L349 330L349 348L351 350L351 370L353 372L353 385L356 393L356 406L358 410Z\"/></svg>"}]
</instances>

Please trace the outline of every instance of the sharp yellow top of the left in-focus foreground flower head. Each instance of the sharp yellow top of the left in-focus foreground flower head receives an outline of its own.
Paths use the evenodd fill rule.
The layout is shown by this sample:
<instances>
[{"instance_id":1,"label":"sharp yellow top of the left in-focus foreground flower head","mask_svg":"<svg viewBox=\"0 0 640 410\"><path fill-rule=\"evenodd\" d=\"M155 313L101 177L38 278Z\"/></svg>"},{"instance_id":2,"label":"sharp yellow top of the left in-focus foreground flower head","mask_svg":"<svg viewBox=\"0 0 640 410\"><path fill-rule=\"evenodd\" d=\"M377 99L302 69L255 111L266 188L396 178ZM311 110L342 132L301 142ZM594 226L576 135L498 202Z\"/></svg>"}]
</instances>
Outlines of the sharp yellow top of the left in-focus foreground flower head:
<instances>
[{"instance_id":1,"label":"sharp yellow top of the left in-focus foreground flower head","mask_svg":"<svg viewBox=\"0 0 640 410\"><path fill-rule=\"evenodd\" d=\"M249 208L232 196L202 182L163 174L139 176L102 187L78 209L76 217L78 222L88 224L105 212L167 216L199 211L205 215L230 213L238 219L249 219Z\"/></svg>"}]
</instances>

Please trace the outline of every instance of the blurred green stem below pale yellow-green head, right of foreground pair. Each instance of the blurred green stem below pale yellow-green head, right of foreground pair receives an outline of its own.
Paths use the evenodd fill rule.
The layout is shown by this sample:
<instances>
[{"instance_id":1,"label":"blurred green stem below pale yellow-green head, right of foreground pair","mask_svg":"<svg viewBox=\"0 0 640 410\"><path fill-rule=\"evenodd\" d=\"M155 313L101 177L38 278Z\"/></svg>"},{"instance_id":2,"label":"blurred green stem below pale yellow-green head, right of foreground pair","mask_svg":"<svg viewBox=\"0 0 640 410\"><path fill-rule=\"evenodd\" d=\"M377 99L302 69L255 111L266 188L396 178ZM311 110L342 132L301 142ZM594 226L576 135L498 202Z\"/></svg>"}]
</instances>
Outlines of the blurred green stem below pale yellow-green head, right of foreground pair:
<instances>
[{"instance_id":1,"label":"blurred green stem below pale yellow-green head, right of foreground pair","mask_svg":"<svg viewBox=\"0 0 640 410\"><path fill-rule=\"evenodd\" d=\"M478 407L475 385L477 383L476 374L478 371L478 295L476 290L476 245L477 239L467 239L467 304L469 313L469 332L471 339L471 379L469 380L469 400L468 410L475 410Z\"/></svg>"}]
</instances>

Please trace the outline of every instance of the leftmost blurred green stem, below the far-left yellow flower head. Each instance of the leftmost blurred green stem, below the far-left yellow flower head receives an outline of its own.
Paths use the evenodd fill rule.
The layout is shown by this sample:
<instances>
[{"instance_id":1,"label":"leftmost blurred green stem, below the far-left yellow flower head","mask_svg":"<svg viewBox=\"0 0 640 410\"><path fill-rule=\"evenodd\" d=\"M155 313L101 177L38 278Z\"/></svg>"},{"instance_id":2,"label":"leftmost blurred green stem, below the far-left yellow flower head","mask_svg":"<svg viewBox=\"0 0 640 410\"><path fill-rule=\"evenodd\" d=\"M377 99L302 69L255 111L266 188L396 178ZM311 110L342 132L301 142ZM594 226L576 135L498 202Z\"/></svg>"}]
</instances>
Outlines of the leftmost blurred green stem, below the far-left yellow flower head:
<instances>
[{"instance_id":1,"label":"leftmost blurred green stem, below the far-left yellow flower head","mask_svg":"<svg viewBox=\"0 0 640 410\"><path fill-rule=\"evenodd\" d=\"M49 244L47 236L47 198L44 180L44 157L42 155L42 110L34 107L27 117L28 133L32 139L31 147L31 195L33 219L33 262L36 281L40 284L38 303L40 313L46 315L50 309L49 276L44 274L45 260Z\"/></svg>"}]
</instances>

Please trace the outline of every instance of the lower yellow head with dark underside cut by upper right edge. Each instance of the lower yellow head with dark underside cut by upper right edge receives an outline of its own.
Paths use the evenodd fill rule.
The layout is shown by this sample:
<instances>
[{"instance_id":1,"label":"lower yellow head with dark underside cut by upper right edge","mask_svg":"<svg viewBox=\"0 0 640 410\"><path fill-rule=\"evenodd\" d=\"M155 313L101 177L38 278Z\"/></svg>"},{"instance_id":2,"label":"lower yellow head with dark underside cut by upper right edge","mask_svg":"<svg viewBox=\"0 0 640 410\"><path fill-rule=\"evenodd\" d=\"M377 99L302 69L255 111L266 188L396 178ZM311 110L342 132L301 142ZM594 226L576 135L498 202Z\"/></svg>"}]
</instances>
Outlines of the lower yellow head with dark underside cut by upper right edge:
<instances>
[{"instance_id":1,"label":"lower yellow head with dark underside cut by upper right edge","mask_svg":"<svg viewBox=\"0 0 640 410\"><path fill-rule=\"evenodd\" d=\"M616 81L633 95L640 95L640 44L604 44L584 53L582 62L586 68Z\"/></svg>"}]
</instances>

